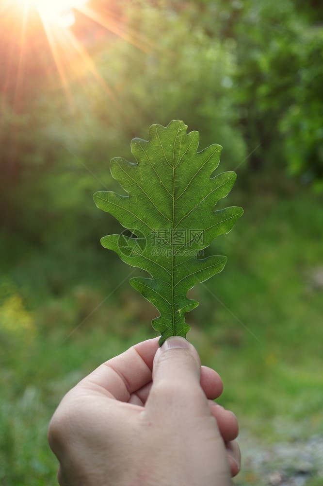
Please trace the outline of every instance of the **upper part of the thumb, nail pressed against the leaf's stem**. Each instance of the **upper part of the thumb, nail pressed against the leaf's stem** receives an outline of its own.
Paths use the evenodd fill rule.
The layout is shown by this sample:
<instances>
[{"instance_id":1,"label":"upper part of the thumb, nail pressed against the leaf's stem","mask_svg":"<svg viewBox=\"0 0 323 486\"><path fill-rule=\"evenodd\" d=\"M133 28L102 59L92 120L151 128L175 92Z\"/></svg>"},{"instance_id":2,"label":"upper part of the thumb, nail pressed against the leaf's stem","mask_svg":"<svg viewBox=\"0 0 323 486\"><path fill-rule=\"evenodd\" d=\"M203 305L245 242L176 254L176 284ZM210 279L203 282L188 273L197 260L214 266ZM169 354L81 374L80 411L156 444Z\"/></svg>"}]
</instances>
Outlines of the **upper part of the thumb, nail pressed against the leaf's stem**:
<instances>
[{"instance_id":1,"label":"upper part of the thumb, nail pressed against the leaf's stem","mask_svg":"<svg viewBox=\"0 0 323 486\"><path fill-rule=\"evenodd\" d=\"M200 375L201 362L194 346L180 336L166 339L155 354L149 405L158 403L161 407L162 403L168 406L176 402L184 406L192 394L206 400Z\"/></svg>"}]
</instances>

